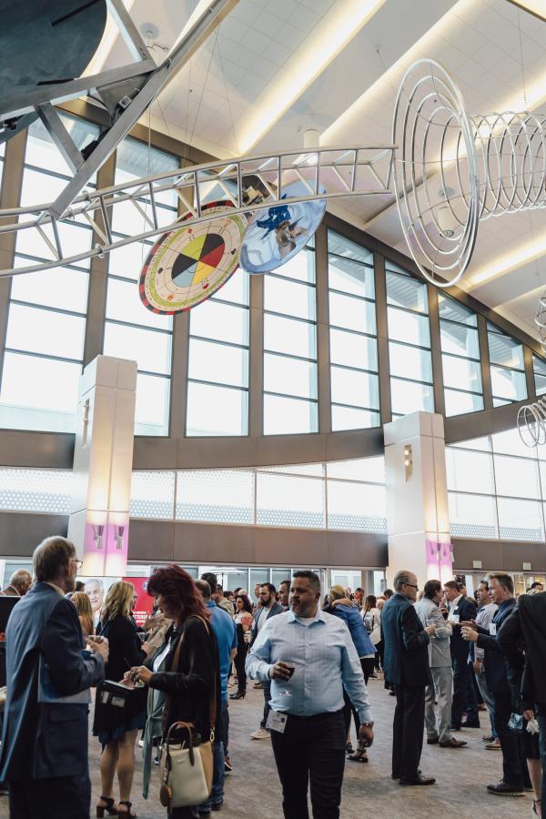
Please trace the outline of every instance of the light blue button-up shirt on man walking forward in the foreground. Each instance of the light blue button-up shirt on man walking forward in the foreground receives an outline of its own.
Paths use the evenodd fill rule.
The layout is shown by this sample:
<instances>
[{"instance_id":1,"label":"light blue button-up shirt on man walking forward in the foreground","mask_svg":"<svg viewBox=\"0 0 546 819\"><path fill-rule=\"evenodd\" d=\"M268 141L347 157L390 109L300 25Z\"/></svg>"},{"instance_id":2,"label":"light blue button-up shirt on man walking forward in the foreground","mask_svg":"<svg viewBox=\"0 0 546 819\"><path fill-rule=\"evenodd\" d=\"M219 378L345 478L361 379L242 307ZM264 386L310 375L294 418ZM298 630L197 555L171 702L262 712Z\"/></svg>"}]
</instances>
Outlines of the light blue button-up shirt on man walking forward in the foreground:
<instances>
[{"instance_id":1,"label":"light blue button-up shirt on man walking forward in the foreground","mask_svg":"<svg viewBox=\"0 0 546 819\"><path fill-rule=\"evenodd\" d=\"M306 620L294 612L271 617L248 652L248 676L266 681L276 662L294 662L296 670L288 682L271 680L273 711L296 716L340 711L345 687L360 722L371 722L362 667L346 624L319 608Z\"/></svg>"}]
</instances>

